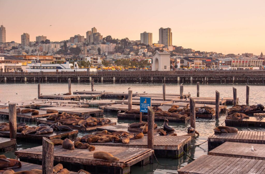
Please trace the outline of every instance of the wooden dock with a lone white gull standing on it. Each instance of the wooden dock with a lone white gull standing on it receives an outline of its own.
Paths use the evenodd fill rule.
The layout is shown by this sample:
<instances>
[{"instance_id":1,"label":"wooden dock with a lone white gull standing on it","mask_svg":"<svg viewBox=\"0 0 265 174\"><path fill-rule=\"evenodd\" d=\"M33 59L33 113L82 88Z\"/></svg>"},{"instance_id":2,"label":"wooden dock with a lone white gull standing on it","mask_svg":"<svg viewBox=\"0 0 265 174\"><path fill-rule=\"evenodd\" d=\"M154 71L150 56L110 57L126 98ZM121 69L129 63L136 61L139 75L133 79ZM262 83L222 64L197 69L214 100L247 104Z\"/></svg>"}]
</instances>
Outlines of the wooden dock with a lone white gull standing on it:
<instances>
[{"instance_id":1,"label":"wooden dock with a lone white gull standing on it","mask_svg":"<svg viewBox=\"0 0 265 174\"><path fill-rule=\"evenodd\" d=\"M253 146L257 151L252 152ZM224 157L249 158L265 160L265 144L249 144L241 142L225 142L217 148L208 152L208 155Z\"/></svg>"}]
</instances>

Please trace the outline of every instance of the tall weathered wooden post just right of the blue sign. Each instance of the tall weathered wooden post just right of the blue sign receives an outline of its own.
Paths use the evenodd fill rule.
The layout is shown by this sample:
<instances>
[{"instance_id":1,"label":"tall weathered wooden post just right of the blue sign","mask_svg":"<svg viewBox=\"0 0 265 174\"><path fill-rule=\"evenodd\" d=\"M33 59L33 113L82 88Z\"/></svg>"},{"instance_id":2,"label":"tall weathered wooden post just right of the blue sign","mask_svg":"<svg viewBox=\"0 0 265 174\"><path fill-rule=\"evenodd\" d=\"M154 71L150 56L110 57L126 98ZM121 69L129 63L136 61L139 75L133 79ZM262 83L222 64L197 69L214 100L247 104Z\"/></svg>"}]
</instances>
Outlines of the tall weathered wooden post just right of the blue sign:
<instances>
[{"instance_id":1,"label":"tall weathered wooden post just right of the blue sign","mask_svg":"<svg viewBox=\"0 0 265 174\"><path fill-rule=\"evenodd\" d=\"M154 110L148 106L147 113L147 148L154 149ZM153 162L153 156L150 157Z\"/></svg>"}]
</instances>

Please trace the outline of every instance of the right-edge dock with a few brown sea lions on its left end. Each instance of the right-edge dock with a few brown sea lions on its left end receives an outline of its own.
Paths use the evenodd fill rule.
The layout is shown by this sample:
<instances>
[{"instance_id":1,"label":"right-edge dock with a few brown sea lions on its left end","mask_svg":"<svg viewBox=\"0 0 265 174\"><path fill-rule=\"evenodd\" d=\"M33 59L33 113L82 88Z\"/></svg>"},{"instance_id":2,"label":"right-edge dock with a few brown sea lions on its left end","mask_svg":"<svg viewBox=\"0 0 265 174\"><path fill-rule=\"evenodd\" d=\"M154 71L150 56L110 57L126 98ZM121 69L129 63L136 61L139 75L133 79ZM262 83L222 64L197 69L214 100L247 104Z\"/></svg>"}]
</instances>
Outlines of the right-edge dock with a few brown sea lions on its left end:
<instances>
[{"instance_id":1,"label":"right-edge dock with a few brown sea lions on its left end","mask_svg":"<svg viewBox=\"0 0 265 174\"><path fill-rule=\"evenodd\" d=\"M225 120L226 126L237 126L237 127L265 127L264 117L249 117L243 118L242 120Z\"/></svg>"}]
</instances>

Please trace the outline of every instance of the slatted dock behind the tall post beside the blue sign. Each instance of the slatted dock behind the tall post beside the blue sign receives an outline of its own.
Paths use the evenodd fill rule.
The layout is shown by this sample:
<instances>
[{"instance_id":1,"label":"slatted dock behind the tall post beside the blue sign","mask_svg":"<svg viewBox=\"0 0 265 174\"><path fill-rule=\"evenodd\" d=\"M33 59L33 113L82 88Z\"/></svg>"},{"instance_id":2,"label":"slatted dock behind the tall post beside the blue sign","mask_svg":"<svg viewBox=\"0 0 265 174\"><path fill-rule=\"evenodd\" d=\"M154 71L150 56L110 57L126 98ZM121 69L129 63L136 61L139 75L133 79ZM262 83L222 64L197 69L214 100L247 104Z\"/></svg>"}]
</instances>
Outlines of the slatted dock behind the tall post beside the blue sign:
<instances>
[{"instance_id":1,"label":"slatted dock behind the tall post beside the blue sign","mask_svg":"<svg viewBox=\"0 0 265 174\"><path fill-rule=\"evenodd\" d=\"M91 143L92 145L126 147L126 148L147 148L147 136L141 139L130 140L128 144L105 142ZM154 154L156 157L180 158L191 146L191 136L154 136Z\"/></svg>"}]
</instances>

